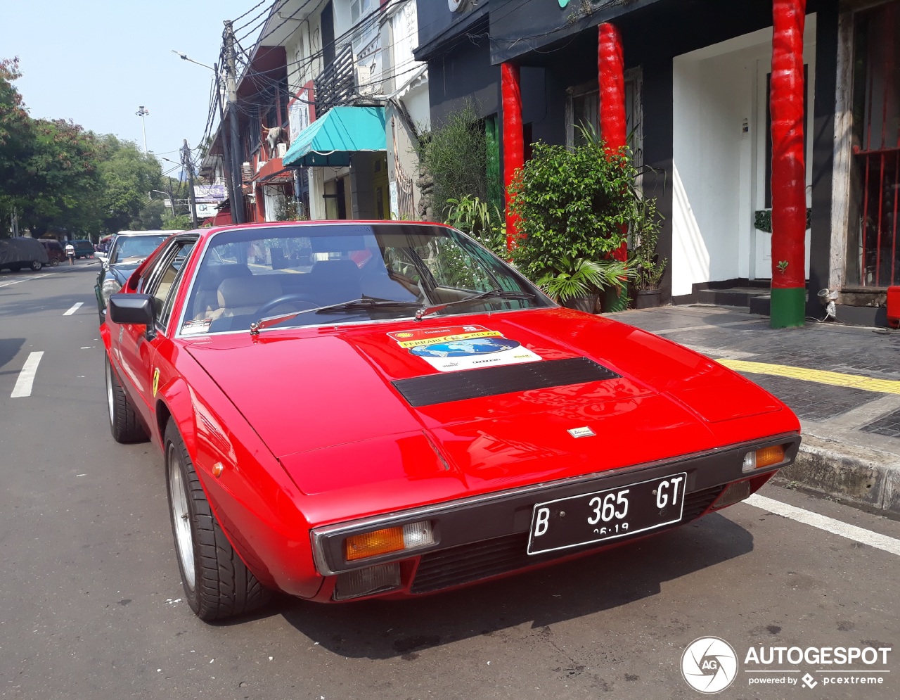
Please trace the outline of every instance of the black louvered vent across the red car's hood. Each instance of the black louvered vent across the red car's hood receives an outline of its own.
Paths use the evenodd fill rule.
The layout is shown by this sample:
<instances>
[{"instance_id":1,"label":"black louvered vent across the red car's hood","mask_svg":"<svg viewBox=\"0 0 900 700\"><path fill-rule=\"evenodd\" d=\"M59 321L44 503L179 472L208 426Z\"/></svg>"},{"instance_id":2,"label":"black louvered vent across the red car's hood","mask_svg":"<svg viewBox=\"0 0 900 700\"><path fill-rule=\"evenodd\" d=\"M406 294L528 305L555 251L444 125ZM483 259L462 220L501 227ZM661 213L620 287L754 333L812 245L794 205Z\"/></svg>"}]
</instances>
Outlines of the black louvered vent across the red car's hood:
<instances>
[{"instance_id":1,"label":"black louvered vent across the red car's hood","mask_svg":"<svg viewBox=\"0 0 900 700\"><path fill-rule=\"evenodd\" d=\"M571 358L444 372L397 379L392 384L411 406L419 407L551 386L599 382L619 376L592 359Z\"/></svg>"}]
</instances>

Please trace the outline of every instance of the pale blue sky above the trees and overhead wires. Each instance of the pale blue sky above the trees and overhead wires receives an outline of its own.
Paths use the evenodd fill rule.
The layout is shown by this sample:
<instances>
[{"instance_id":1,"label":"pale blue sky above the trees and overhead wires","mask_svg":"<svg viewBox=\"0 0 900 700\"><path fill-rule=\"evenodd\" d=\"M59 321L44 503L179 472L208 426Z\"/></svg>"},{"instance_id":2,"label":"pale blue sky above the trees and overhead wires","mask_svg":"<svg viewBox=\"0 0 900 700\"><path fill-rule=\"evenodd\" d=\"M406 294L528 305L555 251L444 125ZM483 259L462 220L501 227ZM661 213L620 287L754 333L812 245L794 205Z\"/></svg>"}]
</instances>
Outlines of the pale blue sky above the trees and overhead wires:
<instances>
[{"instance_id":1,"label":"pale blue sky above the trees and overhead wires","mask_svg":"<svg viewBox=\"0 0 900 700\"><path fill-rule=\"evenodd\" d=\"M207 65L218 58L222 21L256 0L90 0L87 3L0 0L0 59L18 56L16 81L31 116L71 119L98 133L114 133L177 159L182 140L200 141L210 104L212 71L179 59L186 53ZM260 6L236 28L266 10ZM238 32L247 33L255 26ZM258 32L241 41L249 50ZM174 168L162 161L164 171Z\"/></svg>"}]
</instances>

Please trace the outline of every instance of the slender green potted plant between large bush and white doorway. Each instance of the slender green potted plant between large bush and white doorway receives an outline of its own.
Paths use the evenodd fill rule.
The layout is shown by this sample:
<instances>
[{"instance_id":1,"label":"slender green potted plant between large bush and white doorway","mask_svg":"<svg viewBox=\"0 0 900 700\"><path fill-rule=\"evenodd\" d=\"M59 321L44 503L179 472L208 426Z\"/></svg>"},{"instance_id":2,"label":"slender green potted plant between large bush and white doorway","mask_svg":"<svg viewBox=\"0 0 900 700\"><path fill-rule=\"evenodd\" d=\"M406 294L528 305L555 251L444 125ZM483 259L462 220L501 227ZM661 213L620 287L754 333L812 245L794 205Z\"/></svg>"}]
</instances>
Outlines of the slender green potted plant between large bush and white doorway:
<instances>
[{"instance_id":1,"label":"slender green potted plant between large bush and white doorway","mask_svg":"<svg viewBox=\"0 0 900 700\"><path fill-rule=\"evenodd\" d=\"M635 196L629 225L629 267L634 271L635 308L659 306L662 298L662 274L666 259L660 259L656 244L660 240L662 215L656 210L656 199Z\"/></svg>"}]
</instances>

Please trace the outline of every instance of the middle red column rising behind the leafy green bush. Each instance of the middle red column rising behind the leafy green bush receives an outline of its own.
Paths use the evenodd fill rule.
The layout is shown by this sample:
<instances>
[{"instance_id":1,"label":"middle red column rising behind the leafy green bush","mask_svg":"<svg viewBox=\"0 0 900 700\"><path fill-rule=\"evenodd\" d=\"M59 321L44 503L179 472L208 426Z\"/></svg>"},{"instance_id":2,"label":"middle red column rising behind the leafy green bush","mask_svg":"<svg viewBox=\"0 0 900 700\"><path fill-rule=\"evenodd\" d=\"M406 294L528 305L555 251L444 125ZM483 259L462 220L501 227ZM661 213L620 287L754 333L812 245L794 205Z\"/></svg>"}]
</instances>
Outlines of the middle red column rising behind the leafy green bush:
<instances>
[{"instance_id":1,"label":"middle red column rising behind the leafy green bush","mask_svg":"<svg viewBox=\"0 0 900 700\"><path fill-rule=\"evenodd\" d=\"M625 115L625 53L622 34L610 23L599 26L597 72L600 88L600 136L607 143L608 153L617 153L626 145ZM618 260L628 259L628 246L613 252Z\"/></svg>"}]
</instances>

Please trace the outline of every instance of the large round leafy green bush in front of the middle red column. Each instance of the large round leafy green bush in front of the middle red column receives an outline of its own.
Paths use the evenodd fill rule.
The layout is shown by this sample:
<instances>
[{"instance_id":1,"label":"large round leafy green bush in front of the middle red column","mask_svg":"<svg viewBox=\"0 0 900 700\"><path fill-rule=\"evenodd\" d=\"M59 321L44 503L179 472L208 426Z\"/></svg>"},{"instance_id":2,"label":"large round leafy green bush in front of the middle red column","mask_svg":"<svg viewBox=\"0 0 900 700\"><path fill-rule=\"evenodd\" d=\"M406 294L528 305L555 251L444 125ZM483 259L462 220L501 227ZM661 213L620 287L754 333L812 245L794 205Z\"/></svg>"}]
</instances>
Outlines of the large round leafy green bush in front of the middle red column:
<instances>
[{"instance_id":1,"label":"large round leafy green bush in front of the middle red column","mask_svg":"<svg viewBox=\"0 0 900 700\"><path fill-rule=\"evenodd\" d=\"M563 302L590 296L593 311L601 290L624 287L631 274L610 258L627 240L635 168L625 152L608 154L593 130L582 133L586 142L574 148L535 143L508 196L520 236L513 262Z\"/></svg>"}]
</instances>

